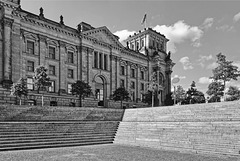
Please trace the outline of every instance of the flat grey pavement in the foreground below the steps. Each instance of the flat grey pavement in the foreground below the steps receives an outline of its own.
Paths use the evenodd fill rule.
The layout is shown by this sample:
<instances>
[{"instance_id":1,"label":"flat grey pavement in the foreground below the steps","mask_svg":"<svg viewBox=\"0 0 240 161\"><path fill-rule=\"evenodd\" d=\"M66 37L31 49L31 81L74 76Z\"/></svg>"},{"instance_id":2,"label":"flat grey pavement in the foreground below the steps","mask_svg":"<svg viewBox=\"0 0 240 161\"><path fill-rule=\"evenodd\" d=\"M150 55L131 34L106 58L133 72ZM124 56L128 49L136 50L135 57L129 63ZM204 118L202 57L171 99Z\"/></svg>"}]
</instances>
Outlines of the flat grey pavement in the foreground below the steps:
<instances>
[{"instance_id":1,"label":"flat grey pavement in the foreground below the steps","mask_svg":"<svg viewBox=\"0 0 240 161\"><path fill-rule=\"evenodd\" d=\"M240 161L117 144L0 152L0 161Z\"/></svg>"}]
</instances>

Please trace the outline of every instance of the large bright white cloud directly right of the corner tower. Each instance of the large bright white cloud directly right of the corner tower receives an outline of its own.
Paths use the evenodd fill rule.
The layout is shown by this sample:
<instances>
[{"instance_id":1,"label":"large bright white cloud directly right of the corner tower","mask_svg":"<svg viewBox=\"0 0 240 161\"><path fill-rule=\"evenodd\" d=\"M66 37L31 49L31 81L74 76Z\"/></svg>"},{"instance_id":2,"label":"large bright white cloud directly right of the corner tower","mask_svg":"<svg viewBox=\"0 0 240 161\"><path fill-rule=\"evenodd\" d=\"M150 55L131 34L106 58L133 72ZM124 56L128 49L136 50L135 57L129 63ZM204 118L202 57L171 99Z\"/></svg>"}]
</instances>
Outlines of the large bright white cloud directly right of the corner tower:
<instances>
[{"instance_id":1,"label":"large bright white cloud directly right of the corner tower","mask_svg":"<svg viewBox=\"0 0 240 161\"><path fill-rule=\"evenodd\" d=\"M168 42L168 50L172 53L177 51L176 44L180 44L185 41L190 41L193 46L199 47L199 40L203 35L203 31L199 27L190 26L183 20L178 21L171 26L157 25L153 29L164 34L170 40Z\"/></svg>"}]
</instances>

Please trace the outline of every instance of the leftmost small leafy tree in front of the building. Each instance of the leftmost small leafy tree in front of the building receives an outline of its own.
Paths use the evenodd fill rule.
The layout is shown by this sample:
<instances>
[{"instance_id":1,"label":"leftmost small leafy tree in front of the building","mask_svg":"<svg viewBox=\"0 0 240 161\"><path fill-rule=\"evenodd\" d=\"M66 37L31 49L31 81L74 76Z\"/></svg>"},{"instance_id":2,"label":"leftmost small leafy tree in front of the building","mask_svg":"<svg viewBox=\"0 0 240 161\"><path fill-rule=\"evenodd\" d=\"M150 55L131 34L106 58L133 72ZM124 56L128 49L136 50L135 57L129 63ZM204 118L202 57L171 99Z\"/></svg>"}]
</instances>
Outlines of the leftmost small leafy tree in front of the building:
<instances>
[{"instance_id":1,"label":"leftmost small leafy tree in front of the building","mask_svg":"<svg viewBox=\"0 0 240 161\"><path fill-rule=\"evenodd\" d=\"M27 80L25 78L20 78L18 82L12 85L11 95L19 98L19 104L22 105L22 97L28 95Z\"/></svg>"}]
</instances>

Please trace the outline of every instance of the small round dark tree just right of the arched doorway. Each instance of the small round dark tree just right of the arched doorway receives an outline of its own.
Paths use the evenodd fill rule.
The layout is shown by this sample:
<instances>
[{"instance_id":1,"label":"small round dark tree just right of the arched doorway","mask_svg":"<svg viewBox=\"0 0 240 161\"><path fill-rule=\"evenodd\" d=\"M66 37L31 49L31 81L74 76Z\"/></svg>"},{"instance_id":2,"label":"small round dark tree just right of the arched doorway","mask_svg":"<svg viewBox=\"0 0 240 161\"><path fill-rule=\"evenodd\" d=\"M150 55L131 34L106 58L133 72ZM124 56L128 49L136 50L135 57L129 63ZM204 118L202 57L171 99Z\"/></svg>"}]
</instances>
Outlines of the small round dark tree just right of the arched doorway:
<instances>
[{"instance_id":1,"label":"small round dark tree just right of the arched doorway","mask_svg":"<svg viewBox=\"0 0 240 161\"><path fill-rule=\"evenodd\" d=\"M113 100L121 101L121 108L123 107L122 101L128 100L129 98L129 92L124 87L119 87L113 92Z\"/></svg>"}]
</instances>

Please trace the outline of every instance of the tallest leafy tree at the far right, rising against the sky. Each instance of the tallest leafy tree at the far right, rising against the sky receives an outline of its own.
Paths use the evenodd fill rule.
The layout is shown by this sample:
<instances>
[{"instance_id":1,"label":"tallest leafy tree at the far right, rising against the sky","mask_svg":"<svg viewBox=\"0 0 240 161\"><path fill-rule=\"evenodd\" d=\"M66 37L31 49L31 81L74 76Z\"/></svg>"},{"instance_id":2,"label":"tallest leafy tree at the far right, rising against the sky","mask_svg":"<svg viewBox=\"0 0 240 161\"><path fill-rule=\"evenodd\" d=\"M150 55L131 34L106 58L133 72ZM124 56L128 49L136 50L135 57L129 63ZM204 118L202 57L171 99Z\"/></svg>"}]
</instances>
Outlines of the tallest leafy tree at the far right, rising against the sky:
<instances>
[{"instance_id":1,"label":"tallest leafy tree at the far right, rising against the sky","mask_svg":"<svg viewBox=\"0 0 240 161\"><path fill-rule=\"evenodd\" d=\"M226 82L231 80L237 80L240 76L240 71L237 66L234 66L233 61L227 61L226 56L222 53L217 55L218 66L213 69L213 76L210 77L215 81L220 81L223 83L223 88L225 90Z\"/></svg>"}]
</instances>

